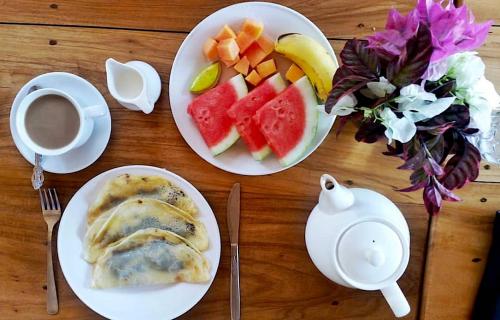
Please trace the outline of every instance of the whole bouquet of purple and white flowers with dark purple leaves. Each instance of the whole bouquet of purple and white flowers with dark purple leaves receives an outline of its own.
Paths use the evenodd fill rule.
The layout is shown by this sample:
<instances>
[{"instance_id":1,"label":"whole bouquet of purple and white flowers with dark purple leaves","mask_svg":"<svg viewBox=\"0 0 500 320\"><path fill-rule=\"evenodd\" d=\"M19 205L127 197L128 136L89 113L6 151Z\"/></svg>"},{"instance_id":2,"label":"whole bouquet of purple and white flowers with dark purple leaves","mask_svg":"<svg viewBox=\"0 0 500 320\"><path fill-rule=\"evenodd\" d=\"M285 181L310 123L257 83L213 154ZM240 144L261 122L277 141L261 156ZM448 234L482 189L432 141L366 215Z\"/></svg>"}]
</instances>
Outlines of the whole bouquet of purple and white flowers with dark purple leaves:
<instances>
[{"instance_id":1,"label":"whole bouquet of purple and white flowers with dark purple leaves","mask_svg":"<svg viewBox=\"0 0 500 320\"><path fill-rule=\"evenodd\" d=\"M347 41L343 65L333 78L325 111L351 120L355 139L388 139L387 155L412 170L411 186L423 188L430 214L443 200L458 201L452 190L474 181L481 155L471 137L490 130L500 103L485 66L474 50L486 40L492 21L475 23L466 6L418 0L403 16L392 9L386 30L367 40Z\"/></svg>"}]
</instances>

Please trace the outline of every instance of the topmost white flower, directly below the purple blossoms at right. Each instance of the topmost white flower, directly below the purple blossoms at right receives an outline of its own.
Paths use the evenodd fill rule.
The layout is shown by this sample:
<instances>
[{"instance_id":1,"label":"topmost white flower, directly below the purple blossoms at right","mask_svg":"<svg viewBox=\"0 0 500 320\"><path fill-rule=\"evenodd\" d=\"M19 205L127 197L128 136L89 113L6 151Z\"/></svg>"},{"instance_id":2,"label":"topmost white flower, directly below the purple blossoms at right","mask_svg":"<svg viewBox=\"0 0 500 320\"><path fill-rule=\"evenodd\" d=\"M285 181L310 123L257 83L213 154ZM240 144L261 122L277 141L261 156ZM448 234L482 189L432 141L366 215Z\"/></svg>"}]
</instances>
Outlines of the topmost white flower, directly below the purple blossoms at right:
<instances>
[{"instance_id":1,"label":"topmost white flower, directly below the purple blossoms at right","mask_svg":"<svg viewBox=\"0 0 500 320\"><path fill-rule=\"evenodd\" d=\"M457 89L469 88L484 76L484 63L477 52L455 53L448 57L449 77L456 79Z\"/></svg>"}]
</instances>

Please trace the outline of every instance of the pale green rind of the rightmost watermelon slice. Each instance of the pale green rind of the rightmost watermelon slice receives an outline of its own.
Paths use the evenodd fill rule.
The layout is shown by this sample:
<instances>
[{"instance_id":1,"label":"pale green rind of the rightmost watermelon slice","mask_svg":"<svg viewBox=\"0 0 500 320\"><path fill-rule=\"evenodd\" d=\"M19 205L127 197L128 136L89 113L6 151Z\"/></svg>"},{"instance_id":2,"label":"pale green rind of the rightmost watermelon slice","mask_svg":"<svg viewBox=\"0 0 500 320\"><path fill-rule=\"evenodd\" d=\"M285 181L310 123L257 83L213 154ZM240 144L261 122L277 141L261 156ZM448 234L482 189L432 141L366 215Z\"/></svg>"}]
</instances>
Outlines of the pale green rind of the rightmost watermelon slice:
<instances>
[{"instance_id":1,"label":"pale green rind of the rightmost watermelon slice","mask_svg":"<svg viewBox=\"0 0 500 320\"><path fill-rule=\"evenodd\" d=\"M304 106L306 108L306 124L304 134L299 143L292 150L290 150L286 156L279 159L281 165L285 167L288 167L296 162L304 154L305 150L314 139L318 128L318 110L316 108L318 101L309 79L307 76L304 76L297 80L293 85L301 92Z\"/></svg>"}]
</instances>

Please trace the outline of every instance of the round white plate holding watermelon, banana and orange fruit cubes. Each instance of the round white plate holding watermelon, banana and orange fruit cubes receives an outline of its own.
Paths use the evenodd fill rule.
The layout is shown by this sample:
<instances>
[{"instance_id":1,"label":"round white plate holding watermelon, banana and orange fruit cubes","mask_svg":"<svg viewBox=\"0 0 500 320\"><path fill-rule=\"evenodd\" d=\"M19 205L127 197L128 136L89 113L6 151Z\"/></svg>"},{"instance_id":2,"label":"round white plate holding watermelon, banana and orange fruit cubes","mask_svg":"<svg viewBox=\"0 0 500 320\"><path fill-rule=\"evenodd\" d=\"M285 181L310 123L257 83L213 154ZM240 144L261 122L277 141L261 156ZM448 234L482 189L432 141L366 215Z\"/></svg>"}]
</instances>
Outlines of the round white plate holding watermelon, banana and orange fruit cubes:
<instances>
[{"instance_id":1,"label":"round white plate holding watermelon, banana and orange fruit cubes","mask_svg":"<svg viewBox=\"0 0 500 320\"><path fill-rule=\"evenodd\" d=\"M302 33L318 41L332 56L335 53L323 35L309 19L282 5L267 2L244 2L225 7L201 21L186 37L175 56L169 81L170 108L182 137L200 157L212 165L236 174L266 175L288 169L307 158L326 138L335 117L319 114L316 135L304 154L294 163L283 167L278 159L269 156L263 161L255 161L241 139L224 153L214 157L187 114L187 107L194 95L189 92L193 78L207 65L203 56L203 43L215 35L224 24L235 29L246 19L254 19L264 24L264 33L276 39L285 33ZM337 63L338 64L338 63Z\"/></svg>"}]
</instances>

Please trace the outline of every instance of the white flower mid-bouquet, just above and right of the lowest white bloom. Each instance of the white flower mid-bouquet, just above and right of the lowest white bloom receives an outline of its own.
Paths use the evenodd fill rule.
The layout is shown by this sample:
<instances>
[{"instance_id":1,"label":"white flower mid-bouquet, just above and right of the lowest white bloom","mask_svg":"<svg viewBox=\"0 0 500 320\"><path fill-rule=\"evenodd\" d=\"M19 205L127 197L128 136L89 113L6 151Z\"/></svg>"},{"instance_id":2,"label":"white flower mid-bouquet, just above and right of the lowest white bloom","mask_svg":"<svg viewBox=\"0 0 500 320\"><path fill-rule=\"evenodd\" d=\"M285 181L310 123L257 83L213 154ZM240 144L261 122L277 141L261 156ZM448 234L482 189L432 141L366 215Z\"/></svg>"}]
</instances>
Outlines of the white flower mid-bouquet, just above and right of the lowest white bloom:
<instances>
[{"instance_id":1,"label":"white flower mid-bouquet, just above and right of the lowest white bloom","mask_svg":"<svg viewBox=\"0 0 500 320\"><path fill-rule=\"evenodd\" d=\"M398 111L413 122L430 119L448 109L455 101L454 97L436 98L436 95L426 92L423 87L410 84L400 91L396 98Z\"/></svg>"}]
</instances>

